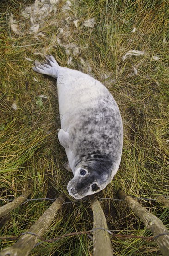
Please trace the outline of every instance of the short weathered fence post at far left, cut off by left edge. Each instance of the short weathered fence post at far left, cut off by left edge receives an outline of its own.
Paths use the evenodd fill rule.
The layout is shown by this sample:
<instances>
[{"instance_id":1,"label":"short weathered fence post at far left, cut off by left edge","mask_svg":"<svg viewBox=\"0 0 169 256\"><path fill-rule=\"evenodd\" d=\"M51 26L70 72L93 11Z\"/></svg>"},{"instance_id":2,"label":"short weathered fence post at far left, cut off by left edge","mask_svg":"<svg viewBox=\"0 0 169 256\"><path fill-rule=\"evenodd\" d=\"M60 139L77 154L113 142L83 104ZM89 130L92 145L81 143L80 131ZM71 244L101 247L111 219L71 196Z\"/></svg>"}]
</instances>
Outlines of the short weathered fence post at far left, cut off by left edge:
<instances>
[{"instance_id":1,"label":"short weathered fence post at far left, cut off by left edge","mask_svg":"<svg viewBox=\"0 0 169 256\"><path fill-rule=\"evenodd\" d=\"M21 205L31 194L31 190L25 191L18 198L0 207L0 218Z\"/></svg>"}]
</instances>

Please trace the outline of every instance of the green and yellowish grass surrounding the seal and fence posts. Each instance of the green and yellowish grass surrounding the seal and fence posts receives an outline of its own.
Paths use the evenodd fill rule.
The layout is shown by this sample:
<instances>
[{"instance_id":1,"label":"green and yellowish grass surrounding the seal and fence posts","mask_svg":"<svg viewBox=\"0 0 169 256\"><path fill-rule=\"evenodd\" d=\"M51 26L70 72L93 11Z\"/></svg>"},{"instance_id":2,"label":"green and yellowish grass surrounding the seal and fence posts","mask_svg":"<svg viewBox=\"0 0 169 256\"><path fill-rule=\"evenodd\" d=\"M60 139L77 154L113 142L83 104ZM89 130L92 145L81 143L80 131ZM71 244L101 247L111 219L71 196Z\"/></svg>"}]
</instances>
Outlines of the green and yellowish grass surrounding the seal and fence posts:
<instances>
[{"instance_id":1,"label":"green and yellowish grass surrounding the seal and fence posts","mask_svg":"<svg viewBox=\"0 0 169 256\"><path fill-rule=\"evenodd\" d=\"M57 139L56 81L31 69L33 60L42 60L46 53L56 56L62 66L93 75L118 102L124 124L122 161L113 181L98 197L116 197L119 188L134 197L169 196L167 1L82 0L72 1L71 7L59 1L51 12L50 1L46 1L45 12L40 16L44 4L39 4L34 20L42 34L30 31L31 12L25 7L33 2L9 0L0 6L0 198L19 196L31 186L31 198L55 198L64 191L67 202L72 200L66 190L72 175L63 168L66 156ZM63 6L69 10L63 12ZM10 13L18 34L9 24ZM65 21L68 17L71 20ZM95 18L93 28L82 26L91 18ZM79 20L77 28L74 20ZM144 51L144 55L122 61L130 50ZM0 235L25 232L50 203L31 201L15 209L1 223ZM156 202L142 203L169 227L168 209ZM102 200L102 206L112 232L151 235L123 202ZM63 207L44 238L90 230L92 222L89 200L73 202ZM13 243L2 241L1 246ZM112 244L115 256L160 255L154 241L113 238ZM89 256L92 241L86 235L66 237L38 245L31 255Z\"/></svg>"}]
</instances>

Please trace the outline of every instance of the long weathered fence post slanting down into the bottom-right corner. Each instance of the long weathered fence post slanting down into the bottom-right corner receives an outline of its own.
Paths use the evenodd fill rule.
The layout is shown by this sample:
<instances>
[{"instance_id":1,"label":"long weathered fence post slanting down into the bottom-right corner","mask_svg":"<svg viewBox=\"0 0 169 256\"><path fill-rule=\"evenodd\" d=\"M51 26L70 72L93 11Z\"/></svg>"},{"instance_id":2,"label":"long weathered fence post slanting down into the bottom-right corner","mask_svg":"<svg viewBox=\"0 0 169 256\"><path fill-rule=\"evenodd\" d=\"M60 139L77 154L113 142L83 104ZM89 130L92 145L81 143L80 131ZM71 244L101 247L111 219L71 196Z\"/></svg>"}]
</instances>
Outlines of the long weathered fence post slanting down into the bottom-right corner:
<instances>
[{"instance_id":1,"label":"long weathered fence post slanting down into the bottom-right corner","mask_svg":"<svg viewBox=\"0 0 169 256\"><path fill-rule=\"evenodd\" d=\"M153 233L163 256L169 256L169 230L163 225L163 222L155 215L150 213L145 207L141 206L131 196L126 195L122 190L119 190L117 195L119 199L122 199L127 203L127 205L144 222L146 228Z\"/></svg>"}]
</instances>

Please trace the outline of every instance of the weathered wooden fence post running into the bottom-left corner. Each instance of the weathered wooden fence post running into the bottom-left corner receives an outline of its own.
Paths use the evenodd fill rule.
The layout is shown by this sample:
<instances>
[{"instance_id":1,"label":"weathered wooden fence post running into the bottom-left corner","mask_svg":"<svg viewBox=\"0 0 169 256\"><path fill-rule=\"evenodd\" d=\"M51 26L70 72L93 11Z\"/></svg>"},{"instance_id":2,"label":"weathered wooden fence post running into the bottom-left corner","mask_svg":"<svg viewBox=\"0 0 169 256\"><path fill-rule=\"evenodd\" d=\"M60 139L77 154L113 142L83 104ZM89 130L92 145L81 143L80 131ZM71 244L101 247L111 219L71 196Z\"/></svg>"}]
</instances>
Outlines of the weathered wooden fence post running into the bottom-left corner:
<instances>
[{"instance_id":1,"label":"weathered wooden fence post running into the bottom-left corner","mask_svg":"<svg viewBox=\"0 0 169 256\"><path fill-rule=\"evenodd\" d=\"M50 226L50 223L53 221L65 198L66 196L62 193L27 231L37 236L31 234L23 235L14 245L3 249L0 256L27 256L37 243L38 236L42 236Z\"/></svg>"}]
</instances>

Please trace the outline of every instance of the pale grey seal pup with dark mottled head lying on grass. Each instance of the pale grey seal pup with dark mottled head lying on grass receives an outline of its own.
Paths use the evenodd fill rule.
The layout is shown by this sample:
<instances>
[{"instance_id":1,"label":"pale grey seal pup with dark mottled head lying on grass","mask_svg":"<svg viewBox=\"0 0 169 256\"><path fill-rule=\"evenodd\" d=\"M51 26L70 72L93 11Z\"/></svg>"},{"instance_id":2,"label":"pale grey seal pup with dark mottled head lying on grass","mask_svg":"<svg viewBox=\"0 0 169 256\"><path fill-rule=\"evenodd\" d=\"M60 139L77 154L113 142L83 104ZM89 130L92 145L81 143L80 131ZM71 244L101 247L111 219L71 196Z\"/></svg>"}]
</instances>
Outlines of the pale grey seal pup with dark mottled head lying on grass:
<instances>
[{"instance_id":1,"label":"pale grey seal pup with dark mottled head lying on grass","mask_svg":"<svg viewBox=\"0 0 169 256\"><path fill-rule=\"evenodd\" d=\"M60 67L53 56L35 61L33 70L57 79L60 144L74 177L67 185L75 199L104 189L121 161L123 125L119 108L108 89L91 76ZM68 165L67 165L68 168Z\"/></svg>"}]
</instances>

